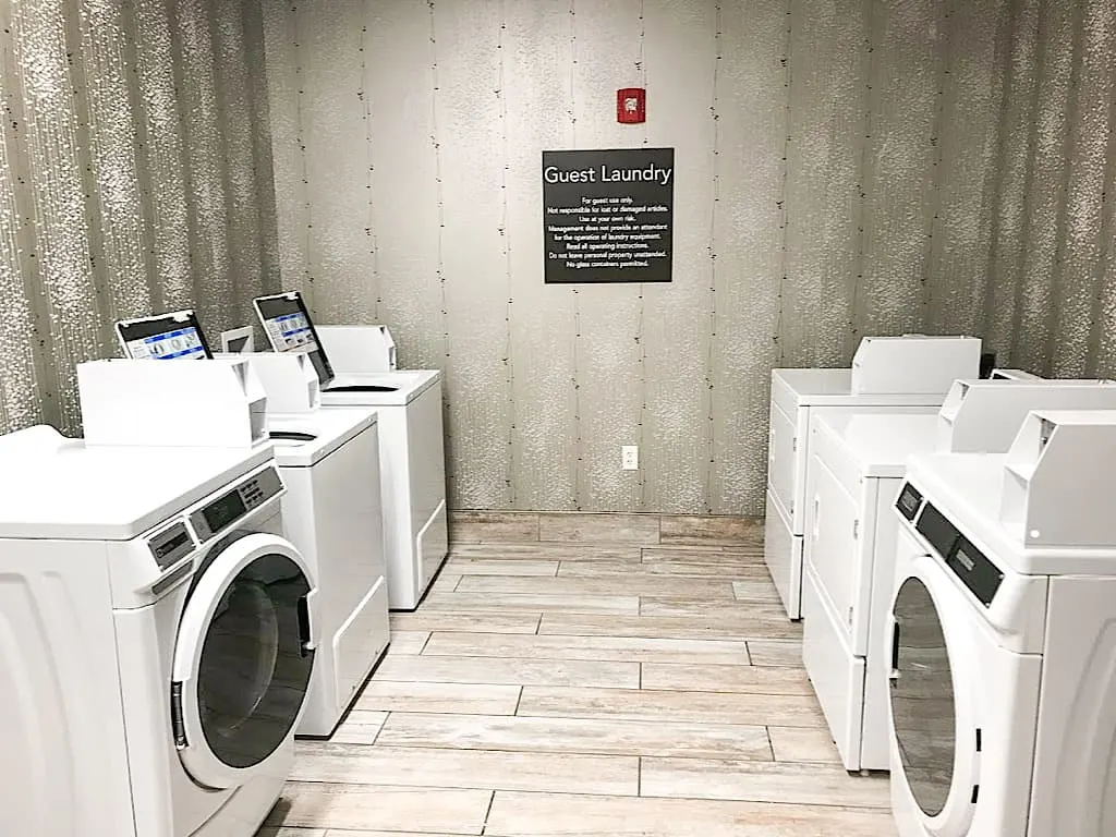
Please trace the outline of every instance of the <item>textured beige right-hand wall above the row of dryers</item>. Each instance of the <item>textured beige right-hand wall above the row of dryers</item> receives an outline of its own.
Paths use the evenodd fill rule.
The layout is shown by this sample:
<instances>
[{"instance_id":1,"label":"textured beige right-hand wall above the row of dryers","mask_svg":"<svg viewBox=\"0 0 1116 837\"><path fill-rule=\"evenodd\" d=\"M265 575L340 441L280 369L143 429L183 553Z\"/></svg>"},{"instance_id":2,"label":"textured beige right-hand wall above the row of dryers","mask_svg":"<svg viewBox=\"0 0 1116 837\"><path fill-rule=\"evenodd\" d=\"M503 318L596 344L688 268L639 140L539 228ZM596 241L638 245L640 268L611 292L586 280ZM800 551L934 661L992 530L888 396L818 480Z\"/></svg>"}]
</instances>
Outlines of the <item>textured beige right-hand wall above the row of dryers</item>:
<instances>
[{"instance_id":1,"label":"textured beige right-hand wall above the row of dryers","mask_svg":"<svg viewBox=\"0 0 1116 837\"><path fill-rule=\"evenodd\" d=\"M989 333L1038 372L1116 376L1116 4L1017 7Z\"/></svg>"}]
</instances>

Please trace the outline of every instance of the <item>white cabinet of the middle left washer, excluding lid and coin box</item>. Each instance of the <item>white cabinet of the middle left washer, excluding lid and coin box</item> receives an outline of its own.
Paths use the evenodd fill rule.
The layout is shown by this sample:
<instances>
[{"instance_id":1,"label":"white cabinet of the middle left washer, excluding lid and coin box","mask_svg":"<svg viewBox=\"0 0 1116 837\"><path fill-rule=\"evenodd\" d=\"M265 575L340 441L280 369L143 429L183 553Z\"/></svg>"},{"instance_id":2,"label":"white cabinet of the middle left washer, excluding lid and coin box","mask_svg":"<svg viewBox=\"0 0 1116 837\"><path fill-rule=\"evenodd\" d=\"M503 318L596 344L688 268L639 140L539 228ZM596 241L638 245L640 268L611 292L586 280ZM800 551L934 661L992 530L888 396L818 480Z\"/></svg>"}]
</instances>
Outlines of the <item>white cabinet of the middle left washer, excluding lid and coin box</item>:
<instances>
[{"instance_id":1,"label":"white cabinet of the middle left washer, excluding lid and coin box","mask_svg":"<svg viewBox=\"0 0 1116 837\"><path fill-rule=\"evenodd\" d=\"M268 429L283 528L318 579L321 644L298 734L329 735L388 643L377 414L269 413Z\"/></svg>"}]
</instances>

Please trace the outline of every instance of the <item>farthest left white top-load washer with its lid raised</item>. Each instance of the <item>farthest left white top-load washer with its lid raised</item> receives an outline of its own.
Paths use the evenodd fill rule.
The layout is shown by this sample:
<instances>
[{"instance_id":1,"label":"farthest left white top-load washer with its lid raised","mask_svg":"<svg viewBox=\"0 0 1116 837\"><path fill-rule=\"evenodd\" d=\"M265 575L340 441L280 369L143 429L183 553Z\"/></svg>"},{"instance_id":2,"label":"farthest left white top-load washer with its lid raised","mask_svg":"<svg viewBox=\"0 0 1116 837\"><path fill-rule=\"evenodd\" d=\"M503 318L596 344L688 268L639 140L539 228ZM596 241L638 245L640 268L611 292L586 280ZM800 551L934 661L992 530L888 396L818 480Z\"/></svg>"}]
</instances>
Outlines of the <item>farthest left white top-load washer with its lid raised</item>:
<instances>
[{"instance_id":1,"label":"farthest left white top-load washer with its lid raised","mask_svg":"<svg viewBox=\"0 0 1116 837\"><path fill-rule=\"evenodd\" d=\"M276 353L310 357L324 407L376 407L388 602L413 610L449 554L442 373L335 375L298 291L260 297L254 307Z\"/></svg>"}]
</instances>

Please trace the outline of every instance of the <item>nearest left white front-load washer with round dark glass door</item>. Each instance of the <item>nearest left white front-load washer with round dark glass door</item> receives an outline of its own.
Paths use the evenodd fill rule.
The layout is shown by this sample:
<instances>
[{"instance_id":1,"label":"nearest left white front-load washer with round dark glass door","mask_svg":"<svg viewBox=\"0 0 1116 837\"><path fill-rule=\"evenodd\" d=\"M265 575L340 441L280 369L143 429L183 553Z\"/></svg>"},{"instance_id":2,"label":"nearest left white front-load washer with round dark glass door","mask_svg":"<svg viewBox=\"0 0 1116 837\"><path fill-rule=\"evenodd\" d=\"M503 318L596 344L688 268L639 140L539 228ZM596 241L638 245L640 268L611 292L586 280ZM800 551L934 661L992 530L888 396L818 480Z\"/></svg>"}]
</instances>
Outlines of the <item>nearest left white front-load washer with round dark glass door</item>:
<instances>
[{"instance_id":1,"label":"nearest left white front-load washer with round dark glass door","mask_svg":"<svg viewBox=\"0 0 1116 837\"><path fill-rule=\"evenodd\" d=\"M0 468L0 834L254 834L317 646L270 448L38 426Z\"/></svg>"}]
</instances>

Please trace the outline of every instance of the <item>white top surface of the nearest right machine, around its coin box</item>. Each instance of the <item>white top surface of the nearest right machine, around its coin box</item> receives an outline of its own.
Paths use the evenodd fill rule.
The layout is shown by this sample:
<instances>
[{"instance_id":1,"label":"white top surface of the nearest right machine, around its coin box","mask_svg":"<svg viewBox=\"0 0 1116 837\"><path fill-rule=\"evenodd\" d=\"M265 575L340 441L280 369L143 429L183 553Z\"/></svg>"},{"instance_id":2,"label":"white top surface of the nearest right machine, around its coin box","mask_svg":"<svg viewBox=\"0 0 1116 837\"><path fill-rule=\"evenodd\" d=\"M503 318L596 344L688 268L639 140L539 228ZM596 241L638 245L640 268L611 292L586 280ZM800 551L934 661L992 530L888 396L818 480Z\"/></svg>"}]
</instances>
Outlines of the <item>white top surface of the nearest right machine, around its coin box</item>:
<instances>
[{"instance_id":1,"label":"white top surface of the nearest right machine, around its coin box","mask_svg":"<svg viewBox=\"0 0 1116 837\"><path fill-rule=\"evenodd\" d=\"M1011 537L1000 521L1007 460L1004 453L920 454L907 462L907 482L1001 569L1031 576L1116 576L1116 545L1028 548Z\"/></svg>"}]
</instances>

